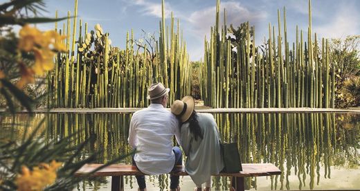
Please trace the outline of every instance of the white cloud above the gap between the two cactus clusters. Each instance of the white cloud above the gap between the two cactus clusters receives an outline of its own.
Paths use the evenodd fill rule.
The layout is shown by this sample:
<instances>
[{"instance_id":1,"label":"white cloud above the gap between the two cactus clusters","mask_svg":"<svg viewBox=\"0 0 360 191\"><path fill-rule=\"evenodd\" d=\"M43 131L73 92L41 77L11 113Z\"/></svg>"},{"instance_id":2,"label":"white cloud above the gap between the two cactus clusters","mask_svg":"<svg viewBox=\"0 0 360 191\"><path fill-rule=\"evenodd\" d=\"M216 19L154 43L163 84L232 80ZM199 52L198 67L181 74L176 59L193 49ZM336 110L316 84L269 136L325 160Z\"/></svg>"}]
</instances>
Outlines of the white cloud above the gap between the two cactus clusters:
<instances>
[{"instance_id":1,"label":"white cloud above the gap between the two cactus clusters","mask_svg":"<svg viewBox=\"0 0 360 191\"><path fill-rule=\"evenodd\" d=\"M258 24L267 17L265 12L251 11L239 2L228 1L220 4L220 25L224 23L224 8L226 10L226 24L239 26L249 21L251 25ZM195 33L204 35L210 33L210 26L215 26L216 6L192 12L188 21L193 26Z\"/></svg>"}]
</instances>

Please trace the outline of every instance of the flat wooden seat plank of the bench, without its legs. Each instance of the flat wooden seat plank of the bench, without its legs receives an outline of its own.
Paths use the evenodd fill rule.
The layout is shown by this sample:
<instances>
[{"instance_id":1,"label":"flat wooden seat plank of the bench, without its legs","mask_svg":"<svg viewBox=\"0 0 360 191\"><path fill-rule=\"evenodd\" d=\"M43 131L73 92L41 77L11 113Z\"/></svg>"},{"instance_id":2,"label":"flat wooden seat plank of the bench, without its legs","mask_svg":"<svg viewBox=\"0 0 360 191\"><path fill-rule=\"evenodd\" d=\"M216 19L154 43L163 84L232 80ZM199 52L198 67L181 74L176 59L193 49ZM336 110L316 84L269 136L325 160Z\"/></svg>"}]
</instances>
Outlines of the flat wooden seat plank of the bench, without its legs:
<instances>
[{"instance_id":1,"label":"flat wooden seat plank of the bench, without its legs","mask_svg":"<svg viewBox=\"0 0 360 191\"><path fill-rule=\"evenodd\" d=\"M102 164L86 164L75 172L75 176L84 176L89 172L95 170L97 167L100 167ZM187 176L184 166L177 166L177 172L172 172L171 174L179 176ZM249 176L269 176L281 174L281 171L278 167L271 163L263 164L253 164L253 163L243 163L242 171L238 173L220 173L215 176L237 176L237 177L249 177ZM134 165L125 165L125 164L114 164L109 165L98 172L91 174L91 176L126 176L126 175L143 175Z\"/></svg>"}]
</instances>

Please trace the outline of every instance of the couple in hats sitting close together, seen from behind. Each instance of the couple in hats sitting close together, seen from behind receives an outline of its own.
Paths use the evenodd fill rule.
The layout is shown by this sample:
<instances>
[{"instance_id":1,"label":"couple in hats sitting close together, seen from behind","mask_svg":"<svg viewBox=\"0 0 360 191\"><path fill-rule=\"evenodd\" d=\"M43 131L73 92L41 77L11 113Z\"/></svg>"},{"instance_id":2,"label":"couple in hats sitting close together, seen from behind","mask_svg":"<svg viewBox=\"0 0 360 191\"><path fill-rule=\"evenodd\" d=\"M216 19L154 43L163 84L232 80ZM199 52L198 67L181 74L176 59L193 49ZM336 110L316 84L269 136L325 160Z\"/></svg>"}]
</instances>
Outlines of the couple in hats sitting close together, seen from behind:
<instances>
[{"instance_id":1,"label":"couple in hats sitting close together, seen from behind","mask_svg":"<svg viewBox=\"0 0 360 191\"><path fill-rule=\"evenodd\" d=\"M219 146L219 133L213 115L196 113L191 96L176 100L171 112L166 108L168 93L163 84L152 84L147 98L150 105L136 111L129 129L129 145L137 149L133 165L144 174L156 175L171 172L182 165L179 147L172 146L175 136L187 156L185 170L194 181L195 190L211 188L211 174L219 174L224 168ZM146 190L145 176L136 176L138 190ZM170 176L170 190L180 190L179 176Z\"/></svg>"}]
</instances>

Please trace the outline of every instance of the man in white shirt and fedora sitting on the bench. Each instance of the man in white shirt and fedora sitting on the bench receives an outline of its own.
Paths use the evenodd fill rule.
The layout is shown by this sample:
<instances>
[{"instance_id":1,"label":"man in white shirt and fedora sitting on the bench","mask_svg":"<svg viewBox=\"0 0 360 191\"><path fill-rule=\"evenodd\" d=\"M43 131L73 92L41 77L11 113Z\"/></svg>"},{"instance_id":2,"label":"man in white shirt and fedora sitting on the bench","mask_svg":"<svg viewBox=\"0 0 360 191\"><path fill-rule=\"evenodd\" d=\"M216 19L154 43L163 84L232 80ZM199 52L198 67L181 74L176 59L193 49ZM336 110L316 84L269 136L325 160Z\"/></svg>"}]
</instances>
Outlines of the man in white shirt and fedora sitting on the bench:
<instances>
[{"instance_id":1,"label":"man in white shirt and fedora sitting on the bench","mask_svg":"<svg viewBox=\"0 0 360 191\"><path fill-rule=\"evenodd\" d=\"M172 137L179 143L179 121L166 110L168 93L163 84L155 83L147 89L150 105L136 111L129 129L129 145L138 151L133 164L144 174L169 173L175 165L182 165L179 147L172 147ZM136 176L139 190L146 190L145 176ZM179 176L170 176L170 190L180 190Z\"/></svg>"}]
</instances>

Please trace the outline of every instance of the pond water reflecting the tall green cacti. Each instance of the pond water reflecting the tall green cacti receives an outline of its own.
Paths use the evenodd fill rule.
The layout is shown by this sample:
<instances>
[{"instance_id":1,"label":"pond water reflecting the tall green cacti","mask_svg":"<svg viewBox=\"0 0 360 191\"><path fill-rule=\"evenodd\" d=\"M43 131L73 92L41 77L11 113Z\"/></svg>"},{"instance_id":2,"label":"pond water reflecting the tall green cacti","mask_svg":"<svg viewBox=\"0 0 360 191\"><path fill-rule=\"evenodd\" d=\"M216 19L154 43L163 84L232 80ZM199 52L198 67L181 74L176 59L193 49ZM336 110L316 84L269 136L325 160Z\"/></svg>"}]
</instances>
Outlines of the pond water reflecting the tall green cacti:
<instances>
[{"instance_id":1,"label":"pond water reflecting the tall green cacti","mask_svg":"<svg viewBox=\"0 0 360 191\"><path fill-rule=\"evenodd\" d=\"M42 131L44 138L62 138L77 134L78 143L91 136L94 139L86 151L99 152L98 163L111 160L130 152L127 145L129 120L132 114L39 114L29 120L27 116L5 118L1 136L21 139L26 129L19 126L8 131L6 123L37 124L46 118ZM334 113L216 113L214 114L222 139L237 142L243 163L273 163L282 174L271 176L267 189L304 190L323 188L324 179L332 179L332 167L346 170L360 165L360 120L359 114ZM35 125L33 125L35 126ZM32 129L27 129L30 132ZM39 134L40 136L40 134ZM87 155L83 153L83 156ZM130 163L126 158L123 163ZM297 188L289 177L296 174ZM227 190L228 179L214 177L216 190ZM344 181L346 177L344 176ZM168 175L150 176L149 184L168 189ZM292 180L294 181L294 180ZM337 180L341 181L341 180ZM136 188L132 176L125 178L130 188ZM246 189L257 188L256 178L246 179ZM110 182L105 178L84 181L78 190L98 190ZM348 185L349 189L356 188Z\"/></svg>"}]
</instances>

